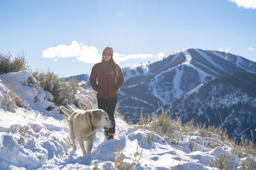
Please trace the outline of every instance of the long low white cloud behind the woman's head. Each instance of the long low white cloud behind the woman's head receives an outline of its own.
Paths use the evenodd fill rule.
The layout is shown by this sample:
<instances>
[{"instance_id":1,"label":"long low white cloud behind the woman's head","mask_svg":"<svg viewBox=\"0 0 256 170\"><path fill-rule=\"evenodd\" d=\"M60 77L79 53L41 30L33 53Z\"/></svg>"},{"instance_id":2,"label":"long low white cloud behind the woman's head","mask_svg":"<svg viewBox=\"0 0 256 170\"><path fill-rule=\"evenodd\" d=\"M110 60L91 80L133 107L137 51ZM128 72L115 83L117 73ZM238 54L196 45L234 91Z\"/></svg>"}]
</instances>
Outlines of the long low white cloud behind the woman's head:
<instances>
[{"instance_id":1,"label":"long low white cloud behind the woman's head","mask_svg":"<svg viewBox=\"0 0 256 170\"><path fill-rule=\"evenodd\" d=\"M60 58L73 57L78 61L86 63L100 62L102 53L94 46L86 46L79 44L77 41L72 41L71 45L58 45L55 47L49 47L42 51L42 57L54 59L54 61ZM153 57L152 54L140 53L124 55L120 53L114 53L113 55L116 62L124 62L130 59L147 59ZM74 61L74 59L73 59Z\"/></svg>"}]
</instances>

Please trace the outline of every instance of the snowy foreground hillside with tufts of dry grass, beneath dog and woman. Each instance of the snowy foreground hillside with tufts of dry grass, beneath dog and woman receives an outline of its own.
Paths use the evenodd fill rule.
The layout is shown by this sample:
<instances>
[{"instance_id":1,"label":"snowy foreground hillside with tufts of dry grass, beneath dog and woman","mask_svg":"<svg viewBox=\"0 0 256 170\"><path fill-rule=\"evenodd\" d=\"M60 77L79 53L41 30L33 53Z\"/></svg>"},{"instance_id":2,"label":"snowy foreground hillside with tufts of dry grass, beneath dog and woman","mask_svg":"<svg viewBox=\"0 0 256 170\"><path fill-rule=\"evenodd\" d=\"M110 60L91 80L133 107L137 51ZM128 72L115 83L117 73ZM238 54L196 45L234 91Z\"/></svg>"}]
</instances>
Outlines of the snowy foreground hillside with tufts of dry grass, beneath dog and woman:
<instances>
[{"instance_id":1,"label":"snowy foreground hillside with tufts of dry grass, beneath dog and woman","mask_svg":"<svg viewBox=\"0 0 256 170\"><path fill-rule=\"evenodd\" d=\"M181 125L179 121L169 122L172 131L167 133L161 121L168 117L149 124L129 125L117 112L115 139L104 139L101 129L95 137L92 154L81 157L78 143L77 151L72 151L66 118L51 102L51 94L41 89L31 73L8 73L0 79L1 169L118 169L118 165L134 169L256 167L255 152L238 150L232 141L228 142L225 133L214 134L204 128ZM85 97L96 108L90 90L81 87L77 90L78 96ZM35 96L38 96L36 100ZM53 107L51 111L46 109L49 105ZM79 110L74 104L68 108Z\"/></svg>"}]
</instances>

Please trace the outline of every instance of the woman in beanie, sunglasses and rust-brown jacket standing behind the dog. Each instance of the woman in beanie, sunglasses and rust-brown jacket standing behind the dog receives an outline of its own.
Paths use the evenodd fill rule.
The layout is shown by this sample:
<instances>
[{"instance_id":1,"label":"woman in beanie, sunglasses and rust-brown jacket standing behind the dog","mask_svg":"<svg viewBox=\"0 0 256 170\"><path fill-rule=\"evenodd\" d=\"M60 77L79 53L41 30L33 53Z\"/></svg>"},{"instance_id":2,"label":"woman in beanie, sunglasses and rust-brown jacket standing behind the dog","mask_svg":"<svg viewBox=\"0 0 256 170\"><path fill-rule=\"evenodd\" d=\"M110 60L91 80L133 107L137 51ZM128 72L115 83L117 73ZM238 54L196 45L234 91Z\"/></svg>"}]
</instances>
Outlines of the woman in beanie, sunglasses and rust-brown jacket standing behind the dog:
<instances>
[{"instance_id":1,"label":"woman in beanie, sunglasses and rust-brown jacket standing behind the dog","mask_svg":"<svg viewBox=\"0 0 256 170\"><path fill-rule=\"evenodd\" d=\"M112 47L104 48L102 61L92 67L90 83L93 90L97 92L98 108L106 111L109 119L115 123L117 91L124 83L124 76L118 64L113 60ZM106 138L114 139L115 125L110 129L104 129L104 134Z\"/></svg>"}]
</instances>

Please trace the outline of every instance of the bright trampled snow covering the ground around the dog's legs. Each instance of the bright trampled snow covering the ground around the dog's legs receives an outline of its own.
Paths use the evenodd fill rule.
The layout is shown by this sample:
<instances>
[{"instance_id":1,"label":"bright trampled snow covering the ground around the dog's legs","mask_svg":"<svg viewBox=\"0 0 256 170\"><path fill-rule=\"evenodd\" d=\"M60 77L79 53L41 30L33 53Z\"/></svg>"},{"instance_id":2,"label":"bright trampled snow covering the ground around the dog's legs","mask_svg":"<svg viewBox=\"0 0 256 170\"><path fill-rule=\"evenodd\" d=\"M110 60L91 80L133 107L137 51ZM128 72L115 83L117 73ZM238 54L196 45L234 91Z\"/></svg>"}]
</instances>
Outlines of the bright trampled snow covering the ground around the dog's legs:
<instances>
[{"instance_id":1,"label":"bright trampled snow covering the ground around the dog's legs","mask_svg":"<svg viewBox=\"0 0 256 170\"><path fill-rule=\"evenodd\" d=\"M29 76L25 72L15 76L19 74ZM9 76L14 77L13 74ZM27 108L8 110L4 103L4 92L8 89L4 85L6 77L0 78L3 80L0 81L0 169L93 169L96 166L98 169L116 169L118 148L123 150L126 164L136 162L132 166L134 169L218 169L215 163L221 155L227 157L232 169L242 169L241 165L249 159L256 162L252 157L239 159L230 152L230 144L218 136L202 138L199 132L174 131L175 139L168 139L146 129L134 131L134 127L117 116L118 113L115 115L115 139L105 139L101 129L94 139L92 154L82 157L78 143L77 151L72 151L68 122L58 107L44 111L45 97L39 97L35 103L26 96ZM19 84L19 81L15 80L15 83ZM24 93L36 96L36 89L31 88L35 87L20 86L17 92L28 90ZM47 104L51 105L50 102ZM214 147L211 141L214 141Z\"/></svg>"}]
</instances>

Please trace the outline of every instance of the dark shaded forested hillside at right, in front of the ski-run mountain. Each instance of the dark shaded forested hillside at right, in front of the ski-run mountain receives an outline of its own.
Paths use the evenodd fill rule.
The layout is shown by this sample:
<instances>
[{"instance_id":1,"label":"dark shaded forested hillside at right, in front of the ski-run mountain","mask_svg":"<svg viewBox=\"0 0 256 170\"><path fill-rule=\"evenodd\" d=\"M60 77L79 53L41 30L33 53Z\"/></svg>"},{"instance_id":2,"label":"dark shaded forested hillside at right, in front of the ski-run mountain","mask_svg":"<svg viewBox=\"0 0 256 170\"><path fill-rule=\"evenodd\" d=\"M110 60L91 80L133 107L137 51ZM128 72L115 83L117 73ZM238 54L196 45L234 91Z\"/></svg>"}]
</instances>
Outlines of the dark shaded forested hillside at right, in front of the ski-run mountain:
<instances>
[{"instance_id":1,"label":"dark shaded forested hillside at right, in front of the ski-run mountain","mask_svg":"<svg viewBox=\"0 0 256 170\"><path fill-rule=\"evenodd\" d=\"M255 83L256 74L252 73L218 76L173 101L170 110L179 112L183 122L194 118L226 128L230 137L248 138L256 125Z\"/></svg>"}]
</instances>

